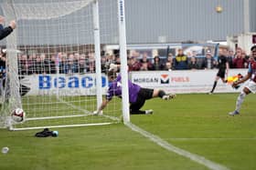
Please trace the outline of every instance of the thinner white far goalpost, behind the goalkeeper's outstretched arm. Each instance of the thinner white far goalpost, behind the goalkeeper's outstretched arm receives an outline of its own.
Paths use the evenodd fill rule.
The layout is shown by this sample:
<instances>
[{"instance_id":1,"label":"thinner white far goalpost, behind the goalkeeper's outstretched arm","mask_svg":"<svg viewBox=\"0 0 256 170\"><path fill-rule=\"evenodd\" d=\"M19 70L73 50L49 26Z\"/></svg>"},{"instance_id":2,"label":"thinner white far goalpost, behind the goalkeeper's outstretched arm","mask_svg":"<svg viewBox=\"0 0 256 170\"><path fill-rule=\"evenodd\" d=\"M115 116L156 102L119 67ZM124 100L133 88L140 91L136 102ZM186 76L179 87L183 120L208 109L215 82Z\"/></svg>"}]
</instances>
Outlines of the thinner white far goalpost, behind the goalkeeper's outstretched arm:
<instances>
[{"instance_id":1,"label":"thinner white far goalpost, behind the goalkeeper's outstretched arm","mask_svg":"<svg viewBox=\"0 0 256 170\"><path fill-rule=\"evenodd\" d=\"M99 19L99 2L95 0L92 5L93 10L93 30L94 30L94 49L95 49L95 68L96 68L96 93L97 108L102 103L101 89L101 39L100 39L100 19Z\"/></svg>"}]
</instances>

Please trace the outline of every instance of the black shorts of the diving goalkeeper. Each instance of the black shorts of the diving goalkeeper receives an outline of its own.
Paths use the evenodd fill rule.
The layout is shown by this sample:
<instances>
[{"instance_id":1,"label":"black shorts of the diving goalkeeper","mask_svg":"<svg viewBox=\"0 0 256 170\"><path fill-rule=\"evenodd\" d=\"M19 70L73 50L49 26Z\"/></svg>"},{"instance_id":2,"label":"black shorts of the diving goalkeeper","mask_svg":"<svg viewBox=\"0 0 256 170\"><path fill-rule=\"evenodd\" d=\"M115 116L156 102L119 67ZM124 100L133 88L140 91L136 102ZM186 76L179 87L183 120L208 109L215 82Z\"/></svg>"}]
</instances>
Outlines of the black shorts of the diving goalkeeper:
<instances>
[{"instance_id":1,"label":"black shorts of the diving goalkeeper","mask_svg":"<svg viewBox=\"0 0 256 170\"><path fill-rule=\"evenodd\" d=\"M138 111L144 105L145 100L151 99L154 93L154 89L141 88L136 102L130 105L131 111Z\"/></svg>"}]
</instances>

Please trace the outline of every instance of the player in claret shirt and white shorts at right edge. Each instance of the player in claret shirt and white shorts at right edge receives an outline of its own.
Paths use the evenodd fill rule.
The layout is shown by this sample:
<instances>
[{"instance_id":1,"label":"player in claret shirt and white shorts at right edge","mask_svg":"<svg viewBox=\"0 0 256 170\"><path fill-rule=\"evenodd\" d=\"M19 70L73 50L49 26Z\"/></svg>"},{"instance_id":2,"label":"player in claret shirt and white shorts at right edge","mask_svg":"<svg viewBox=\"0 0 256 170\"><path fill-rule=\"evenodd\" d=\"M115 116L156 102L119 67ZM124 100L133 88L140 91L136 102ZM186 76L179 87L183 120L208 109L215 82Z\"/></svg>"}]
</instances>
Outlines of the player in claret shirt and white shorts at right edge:
<instances>
[{"instance_id":1,"label":"player in claret shirt and white shorts at right edge","mask_svg":"<svg viewBox=\"0 0 256 170\"><path fill-rule=\"evenodd\" d=\"M239 115L240 114L240 106L245 98L246 95L256 93L256 45L251 47L251 62L249 64L248 74L245 75L242 79L234 82L232 84L233 87L237 87L238 85L246 82L247 80L250 81L245 85L237 99L236 109L233 112L230 112L229 115Z\"/></svg>"}]
</instances>

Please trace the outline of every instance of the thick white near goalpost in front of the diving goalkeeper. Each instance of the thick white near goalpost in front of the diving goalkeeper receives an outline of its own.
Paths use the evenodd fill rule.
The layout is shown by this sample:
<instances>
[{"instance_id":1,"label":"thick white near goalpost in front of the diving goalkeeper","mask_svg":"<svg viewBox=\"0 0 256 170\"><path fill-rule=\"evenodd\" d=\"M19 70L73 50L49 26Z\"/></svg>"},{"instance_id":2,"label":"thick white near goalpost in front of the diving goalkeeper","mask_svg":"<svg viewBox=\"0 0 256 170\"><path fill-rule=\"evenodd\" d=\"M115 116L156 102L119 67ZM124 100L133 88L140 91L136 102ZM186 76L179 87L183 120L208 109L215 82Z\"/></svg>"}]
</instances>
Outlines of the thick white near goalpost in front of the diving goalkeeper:
<instances>
[{"instance_id":1,"label":"thick white near goalpost in front of the diving goalkeeper","mask_svg":"<svg viewBox=\"0 0 256 170\"><path fill-rule=\"evenodd\" d=\"M118 4L118 23L119 23L119 50L121 58L121 75L122 75L122 104L123 104L123 122L130 122L129 112L129 88L128 88L128 67L127 67L127 50L126 50L126 30L125 30L125 13L124 0L117 0Z\"/></svg>"}]
</instances>

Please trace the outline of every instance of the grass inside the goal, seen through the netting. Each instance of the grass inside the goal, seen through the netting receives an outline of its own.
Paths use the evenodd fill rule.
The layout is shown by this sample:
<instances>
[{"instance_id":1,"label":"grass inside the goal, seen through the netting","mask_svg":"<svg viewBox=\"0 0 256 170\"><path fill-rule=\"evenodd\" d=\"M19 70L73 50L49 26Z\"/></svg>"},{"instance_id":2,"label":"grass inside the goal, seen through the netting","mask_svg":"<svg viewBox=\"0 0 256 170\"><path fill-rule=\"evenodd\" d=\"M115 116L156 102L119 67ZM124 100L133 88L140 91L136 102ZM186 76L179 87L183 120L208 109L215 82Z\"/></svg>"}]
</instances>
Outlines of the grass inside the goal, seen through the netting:
<instances>
[{"instance_id":1,"label":"grass inside the goal, seen through the netting","mask_svg":"<svg viewBox=\"0 0 256 170\"><path fill-rule=\"evenodd\" d=\"M27 117L21 124L12 125L12 130L19 128L27 130L42 127L110 125L121 122L121 108L118 108L117 105L109 105L103 115L93 115L92 110L88 110L94 107L95 104L91 106L86 104L91 104L92 101L95 103L96 96L38 95L27 97L23 98L26 102L30 101L29 104L23 102L24 109L27 110ZM45 101L43 105L40 103L42 98ZM46 101L46 98L48 101ZM113 101L113 104L120 103L119 99L114 100L116 101ZM38 107L38 105L42 105L42 107Z\"/></svg>"}]
</instances>

